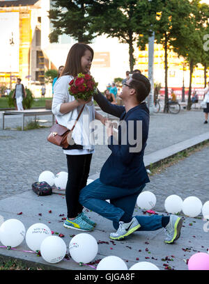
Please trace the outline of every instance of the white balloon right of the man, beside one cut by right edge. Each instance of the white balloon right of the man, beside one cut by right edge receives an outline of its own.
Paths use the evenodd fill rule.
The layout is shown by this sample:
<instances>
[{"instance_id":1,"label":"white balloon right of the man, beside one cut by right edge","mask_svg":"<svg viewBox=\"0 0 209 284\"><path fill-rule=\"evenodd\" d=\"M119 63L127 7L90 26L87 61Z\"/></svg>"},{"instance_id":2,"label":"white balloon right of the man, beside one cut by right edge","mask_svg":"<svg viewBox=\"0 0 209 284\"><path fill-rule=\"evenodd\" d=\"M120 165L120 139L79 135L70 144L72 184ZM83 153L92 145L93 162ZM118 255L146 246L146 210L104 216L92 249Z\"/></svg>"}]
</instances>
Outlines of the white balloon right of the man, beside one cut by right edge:
<instances>
[{"instance_id":1,"label":"white balloon right of the man, beside one cut by right edge","mask_svg":"<svg viewBox=\"0 0 209 284\"><path fill-rule=\"evenodd\" d=\"M196 217L201 213L203 204L196 196L189 196L183 200L183 213L189 217Z\"/></svg>"}]
</instances>

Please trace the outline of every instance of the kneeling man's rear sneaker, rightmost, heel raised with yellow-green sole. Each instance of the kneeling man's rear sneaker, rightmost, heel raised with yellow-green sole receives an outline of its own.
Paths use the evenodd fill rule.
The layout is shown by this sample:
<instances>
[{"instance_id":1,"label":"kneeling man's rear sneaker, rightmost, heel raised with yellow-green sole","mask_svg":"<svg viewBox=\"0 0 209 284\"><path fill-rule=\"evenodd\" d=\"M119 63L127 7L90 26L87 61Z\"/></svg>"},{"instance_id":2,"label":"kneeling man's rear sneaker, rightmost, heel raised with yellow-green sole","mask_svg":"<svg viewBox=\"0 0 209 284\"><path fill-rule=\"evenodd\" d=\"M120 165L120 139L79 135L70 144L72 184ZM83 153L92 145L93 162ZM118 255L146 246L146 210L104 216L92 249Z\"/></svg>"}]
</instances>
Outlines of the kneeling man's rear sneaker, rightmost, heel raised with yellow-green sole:
<instances>
[{"instance_id":1,"label":"kneeling man's rear sneaker, rightmost, heel raised with yellow-green sole","mask_svg":"<svg viewBox=\"0 0 209 284\"><path fill-rule=\"evenodd\" d=\"M182 218L175 215L171 215L170 221L168 225L165 227L164 242L166 242L167 244L173 244L173 242L175 242L176 239L180 237L180 229L182 224L183 224Z\"/></svg>"}]
</instances>

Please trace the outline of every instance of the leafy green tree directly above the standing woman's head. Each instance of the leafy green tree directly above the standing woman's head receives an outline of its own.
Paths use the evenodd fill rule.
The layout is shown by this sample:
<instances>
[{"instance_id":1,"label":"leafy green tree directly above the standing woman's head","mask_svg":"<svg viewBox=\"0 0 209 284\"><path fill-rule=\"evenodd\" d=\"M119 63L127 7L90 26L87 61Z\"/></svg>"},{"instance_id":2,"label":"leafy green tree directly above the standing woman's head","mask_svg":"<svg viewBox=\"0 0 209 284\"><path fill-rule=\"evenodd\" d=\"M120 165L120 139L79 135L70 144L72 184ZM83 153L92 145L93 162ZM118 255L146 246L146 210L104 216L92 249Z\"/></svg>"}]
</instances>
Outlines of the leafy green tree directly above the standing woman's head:
<instances>
[{"instance_id":1,"label":"leafy green tree directly above the standing woman's head","mask_svg":"<svg viewBox=\"0 0 209 284\"><path fill-rule=\"evenodd\" d=\"M49 19L54 29L49 34L50 42L58 42L59 36L66 34L78 42L90 43L95 34L90 32L93 15L89 9L94 0L54 0L49 10Z\"/></svg>"}]
</instances>

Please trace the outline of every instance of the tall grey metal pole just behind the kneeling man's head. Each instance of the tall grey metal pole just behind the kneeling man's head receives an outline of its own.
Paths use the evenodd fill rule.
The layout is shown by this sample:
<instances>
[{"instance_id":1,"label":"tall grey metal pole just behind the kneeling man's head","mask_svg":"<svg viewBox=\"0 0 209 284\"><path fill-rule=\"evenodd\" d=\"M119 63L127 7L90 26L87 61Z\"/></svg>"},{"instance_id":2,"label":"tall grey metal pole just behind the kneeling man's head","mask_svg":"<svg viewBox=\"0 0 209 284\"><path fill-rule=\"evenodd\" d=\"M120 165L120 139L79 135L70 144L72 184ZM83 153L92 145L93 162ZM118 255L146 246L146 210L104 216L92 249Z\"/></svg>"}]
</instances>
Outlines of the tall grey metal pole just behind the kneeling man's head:
<instances>
[{"instance_id":1,"label":"tall grey metal pole just behind the kneeling man's head","mask_svg":"<svg viewBox=\"0 0 209 284\"><path fill-rule=\"evenodd\" d=\"M153 0L148 0L149 2ZM148 79L151 84L150 94L148 96L148 108L150 114L154 112L154 79L153 79L153 65L154 65L154 43L155 32L152 32L152 36L148 38Z\"/></svg>"}]
</instances>

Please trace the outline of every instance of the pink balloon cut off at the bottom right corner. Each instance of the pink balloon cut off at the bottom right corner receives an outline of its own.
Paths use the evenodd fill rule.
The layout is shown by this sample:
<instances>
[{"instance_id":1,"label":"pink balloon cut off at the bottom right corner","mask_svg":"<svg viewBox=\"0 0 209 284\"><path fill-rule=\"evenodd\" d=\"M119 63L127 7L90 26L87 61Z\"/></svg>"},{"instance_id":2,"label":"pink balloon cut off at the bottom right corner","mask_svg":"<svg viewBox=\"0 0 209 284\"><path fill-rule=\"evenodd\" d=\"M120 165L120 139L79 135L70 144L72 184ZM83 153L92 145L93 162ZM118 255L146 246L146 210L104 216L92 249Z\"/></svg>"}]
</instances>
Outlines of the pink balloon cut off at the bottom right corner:
<instances>
[{"instance_id":1,"label":"pink balloon cut off at the bottom right corner","mask_svg":"<svg viewBox=\"0 0 209 284\"><path fill-rule=\"evenodd\" d=\"M209 254L194 253L188 261L189 270L209 270Z\"/></svg>"}]
</instances>

